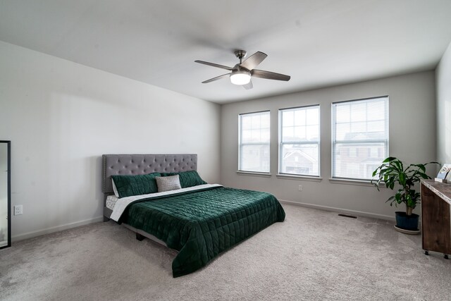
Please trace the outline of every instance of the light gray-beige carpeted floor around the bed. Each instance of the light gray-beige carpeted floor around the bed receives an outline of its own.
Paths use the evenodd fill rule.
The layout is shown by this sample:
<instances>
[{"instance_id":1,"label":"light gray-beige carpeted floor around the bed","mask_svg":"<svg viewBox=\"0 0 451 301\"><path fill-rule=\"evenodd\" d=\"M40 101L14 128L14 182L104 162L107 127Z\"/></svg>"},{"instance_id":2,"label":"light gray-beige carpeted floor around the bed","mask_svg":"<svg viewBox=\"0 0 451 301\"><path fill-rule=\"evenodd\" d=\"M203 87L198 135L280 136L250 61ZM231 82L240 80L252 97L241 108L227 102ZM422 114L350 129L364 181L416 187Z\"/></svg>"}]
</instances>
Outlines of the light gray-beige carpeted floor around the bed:
<instances>
[{"instance_id":1,"label":"light gray-beige carpeted floor around the bed","mask_svg":"<svg viewBox=\"0 0 451 301\"><path fill-rule=\"evenodd\" d=\"M1 300L451 300L451 260L393 223L284 204L287 218L204 269L113 221L0 250Z\"/></svg>"}]
</instances>

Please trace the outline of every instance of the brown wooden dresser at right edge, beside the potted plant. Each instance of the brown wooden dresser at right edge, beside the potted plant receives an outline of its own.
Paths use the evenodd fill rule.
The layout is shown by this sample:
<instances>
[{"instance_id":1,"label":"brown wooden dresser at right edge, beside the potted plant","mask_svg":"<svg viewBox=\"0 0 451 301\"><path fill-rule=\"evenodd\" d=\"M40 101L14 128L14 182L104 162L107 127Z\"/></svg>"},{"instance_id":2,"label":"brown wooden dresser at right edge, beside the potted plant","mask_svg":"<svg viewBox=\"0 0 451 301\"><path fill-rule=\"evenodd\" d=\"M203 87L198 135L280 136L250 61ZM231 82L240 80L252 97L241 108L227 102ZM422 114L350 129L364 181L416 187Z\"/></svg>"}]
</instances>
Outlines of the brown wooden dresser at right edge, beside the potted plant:
<instances>
[{"instance_id":1,"label":"brown wooden dresser at right edge, beside the potted plant","mask_svg":"<svg viewBox=\"0 0 451 301\"><path fill-rule=\"evenodd\" d=\"M421 233L424 254L451 254L451 184L421 180Z\"/></svg>"}]
</instances>

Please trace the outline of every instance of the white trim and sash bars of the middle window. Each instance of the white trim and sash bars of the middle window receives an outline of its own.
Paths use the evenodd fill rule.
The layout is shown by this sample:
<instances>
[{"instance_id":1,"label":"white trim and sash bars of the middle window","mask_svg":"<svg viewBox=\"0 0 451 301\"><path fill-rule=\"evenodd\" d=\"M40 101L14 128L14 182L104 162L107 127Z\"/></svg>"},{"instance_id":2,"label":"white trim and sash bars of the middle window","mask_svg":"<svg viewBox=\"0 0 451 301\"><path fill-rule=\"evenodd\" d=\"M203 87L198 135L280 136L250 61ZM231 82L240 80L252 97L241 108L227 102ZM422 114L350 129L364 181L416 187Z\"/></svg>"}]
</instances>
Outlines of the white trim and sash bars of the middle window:
<instances>
[{"instance_id":1,"label":"white trim and sash bars of the middle window","mask_svg":"<svg viewBox=\"0 0 451 301\"><path fill-rule=\"evenodd\" d=\"M289 109L304 109L304 108L309 108L309 107L313 107L313 106L318 106L319 112L318 112L318 142L314 143L314 142L282 142L282 111L283 110L289 110ZM283 145L318 145L318 176L311 176L311 175L305 175L302 173L283 173L282 171L280 171L280 169L282 168L282 159L280 157L281 154L283 154L282 152L282 147ZM277 177L278 178L305 178L305 179L318 179L319 181L322 180L321 178L321 105L320 104L309 104L307 106L293 106L290 108L281 108L278 109L278 147L277 147Z\"/></svg>"}]
</instances>

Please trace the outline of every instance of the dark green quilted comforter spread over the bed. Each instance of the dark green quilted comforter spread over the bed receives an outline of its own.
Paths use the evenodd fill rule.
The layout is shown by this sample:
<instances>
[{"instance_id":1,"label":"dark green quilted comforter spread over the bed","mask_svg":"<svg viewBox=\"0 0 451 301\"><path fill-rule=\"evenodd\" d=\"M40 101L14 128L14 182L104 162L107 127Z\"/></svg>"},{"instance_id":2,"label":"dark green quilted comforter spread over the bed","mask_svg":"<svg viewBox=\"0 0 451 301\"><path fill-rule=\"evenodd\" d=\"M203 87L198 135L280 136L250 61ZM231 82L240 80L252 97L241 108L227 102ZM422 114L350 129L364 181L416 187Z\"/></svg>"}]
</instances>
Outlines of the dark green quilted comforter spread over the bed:
<instances>
[{"instance_id":1,"label":"dark green quilted comforter spread over the bed","mask_svg":"<svg viewBox=\"0 0 451 301\"><path fill-rule=\"evenodd\" d=\"M273 195L216 187L130 204L120 222L178 250L173 277L190 274L276 221L285 211Z\"/></svg>"}]
</instances>

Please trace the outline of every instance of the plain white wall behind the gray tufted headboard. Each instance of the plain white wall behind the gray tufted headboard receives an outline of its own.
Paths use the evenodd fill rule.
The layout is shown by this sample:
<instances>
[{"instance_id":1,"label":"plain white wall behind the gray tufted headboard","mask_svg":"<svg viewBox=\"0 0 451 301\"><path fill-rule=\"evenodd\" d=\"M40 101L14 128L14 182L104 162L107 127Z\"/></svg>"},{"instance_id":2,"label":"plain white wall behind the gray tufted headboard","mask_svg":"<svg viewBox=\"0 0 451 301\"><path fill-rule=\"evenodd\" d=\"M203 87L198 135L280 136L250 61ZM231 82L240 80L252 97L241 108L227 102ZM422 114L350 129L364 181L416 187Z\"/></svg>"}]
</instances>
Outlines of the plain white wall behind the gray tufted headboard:
<instances>
[{"instance_id":1,"label":"plain white wall behind the gray tufted headboard","mask_svg":"<svg viewBox=\"0 0 451 301\"><path fill-rule=\"evenodd\" d=\"M217 104L4 42L0 66L13 239L101 220L101 154L196 153L218 182Z\"/></svg>"}]
</instances>

